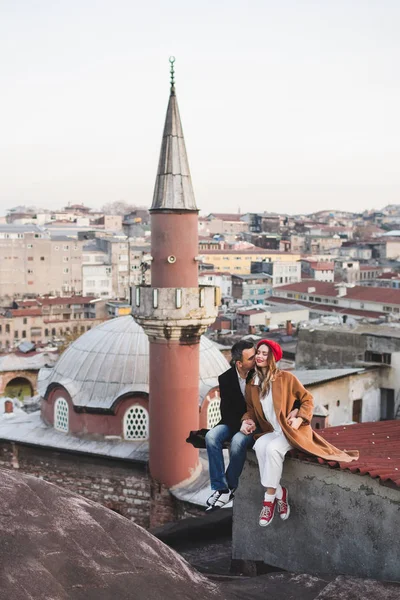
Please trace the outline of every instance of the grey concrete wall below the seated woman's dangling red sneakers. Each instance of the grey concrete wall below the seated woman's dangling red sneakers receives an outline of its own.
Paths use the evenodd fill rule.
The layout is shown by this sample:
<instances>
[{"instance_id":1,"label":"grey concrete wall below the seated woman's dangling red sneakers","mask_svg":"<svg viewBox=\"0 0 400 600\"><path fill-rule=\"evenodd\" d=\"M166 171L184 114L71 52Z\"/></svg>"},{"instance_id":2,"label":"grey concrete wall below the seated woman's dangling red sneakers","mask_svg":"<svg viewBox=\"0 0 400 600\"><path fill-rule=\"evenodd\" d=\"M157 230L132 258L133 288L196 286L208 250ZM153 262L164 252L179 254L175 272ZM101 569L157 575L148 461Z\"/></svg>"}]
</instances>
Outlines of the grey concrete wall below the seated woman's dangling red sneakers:
<instances>
[{"instance_id":1,"label":"grey concrete wall below the seated woman's dangling red sneakers","mask_svg":"<svg viewBox=\"0 0 400 600\"><path fill-rule=\"evenodd\" d=\"M263 490L249 452L233 507L232 558L311 574L400 581L400 490L369 476L287 459L291 515L258 525Z\"/></svg>"}]
</instances>

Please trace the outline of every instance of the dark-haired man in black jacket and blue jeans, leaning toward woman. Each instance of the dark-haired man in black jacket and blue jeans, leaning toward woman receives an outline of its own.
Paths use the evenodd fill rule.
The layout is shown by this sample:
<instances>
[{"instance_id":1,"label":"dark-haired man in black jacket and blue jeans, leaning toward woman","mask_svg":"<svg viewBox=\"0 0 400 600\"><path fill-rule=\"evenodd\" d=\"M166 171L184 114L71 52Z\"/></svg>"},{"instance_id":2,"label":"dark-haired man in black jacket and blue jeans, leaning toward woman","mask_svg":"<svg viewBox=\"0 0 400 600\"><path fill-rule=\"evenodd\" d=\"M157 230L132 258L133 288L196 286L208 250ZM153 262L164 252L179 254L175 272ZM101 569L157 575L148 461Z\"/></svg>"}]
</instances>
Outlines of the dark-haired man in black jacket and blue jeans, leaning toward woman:
<instances>
[{"instance_id":1,"label":"dark-haired man in black jacket and blue jeans, leaning toward woman","mask_svg":"<svg viewBox=\"0 0 400 600\"><path fill-rule=\"evenodd\" d=\"M221 420L206 435L206 448L213 493L207 500L206 512L221 508L233 499L239 477L251 448L252 435L240 432L241 418L246 412L244 399L246 380L251 377L256 351L252 342L240 340L232 346L232 367L219 376ZM250 377L249 377L250 376ZM225 472L223 447L230 441L229 465Z\"/></svg>"}]
</instances>

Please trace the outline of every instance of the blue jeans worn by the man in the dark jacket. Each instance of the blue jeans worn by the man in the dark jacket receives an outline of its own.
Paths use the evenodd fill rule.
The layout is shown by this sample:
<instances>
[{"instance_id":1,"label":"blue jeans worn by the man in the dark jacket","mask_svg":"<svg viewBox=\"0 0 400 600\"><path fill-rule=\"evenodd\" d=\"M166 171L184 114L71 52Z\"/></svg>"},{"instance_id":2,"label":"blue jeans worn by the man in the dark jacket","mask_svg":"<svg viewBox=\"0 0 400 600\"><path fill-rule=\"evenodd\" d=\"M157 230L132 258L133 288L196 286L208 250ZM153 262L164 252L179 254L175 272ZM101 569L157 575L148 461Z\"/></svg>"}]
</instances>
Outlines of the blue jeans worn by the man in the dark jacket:
<instances>
[{"instance_id":1,"label":"blue jeans worn by the man in the dark jacket","mask_svg":"<svg viewBox=\"0 0 400 600\"><path fill-rule=\"evenodd\" d=\"M225 473L224 442L231 442L229 465ZM247 449L254 444L253 435L238 431L233 433L228 425L216 425L206 434L208 466L212 490L237 488L239 477L246 460Z\"/></svg>"}]
</instances>

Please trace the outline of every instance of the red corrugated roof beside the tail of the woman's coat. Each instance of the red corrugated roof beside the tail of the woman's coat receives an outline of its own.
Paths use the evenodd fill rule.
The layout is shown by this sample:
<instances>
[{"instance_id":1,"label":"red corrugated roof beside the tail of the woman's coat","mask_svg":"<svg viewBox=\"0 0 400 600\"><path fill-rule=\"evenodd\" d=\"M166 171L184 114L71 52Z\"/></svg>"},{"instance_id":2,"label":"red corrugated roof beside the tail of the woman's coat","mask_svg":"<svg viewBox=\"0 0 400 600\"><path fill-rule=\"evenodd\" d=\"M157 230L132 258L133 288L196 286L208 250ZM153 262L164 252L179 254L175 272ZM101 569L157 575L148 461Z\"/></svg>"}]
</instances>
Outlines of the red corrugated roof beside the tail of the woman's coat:
<instances>
[{"instance_id":1,"label":"red corrugated roof beside the tail of the woman's coat","mask_svg":"<svg viewBox=\"0 0 400 600\"><path fill-rule=\"evenodd\" d=\"M351 463L338 463L306 455L298 450L292 453L302 460L369 475L400 487L400 420L327 427L318 433L341 450L359 450L360 458Z\"/></svg>"}]
</instances>

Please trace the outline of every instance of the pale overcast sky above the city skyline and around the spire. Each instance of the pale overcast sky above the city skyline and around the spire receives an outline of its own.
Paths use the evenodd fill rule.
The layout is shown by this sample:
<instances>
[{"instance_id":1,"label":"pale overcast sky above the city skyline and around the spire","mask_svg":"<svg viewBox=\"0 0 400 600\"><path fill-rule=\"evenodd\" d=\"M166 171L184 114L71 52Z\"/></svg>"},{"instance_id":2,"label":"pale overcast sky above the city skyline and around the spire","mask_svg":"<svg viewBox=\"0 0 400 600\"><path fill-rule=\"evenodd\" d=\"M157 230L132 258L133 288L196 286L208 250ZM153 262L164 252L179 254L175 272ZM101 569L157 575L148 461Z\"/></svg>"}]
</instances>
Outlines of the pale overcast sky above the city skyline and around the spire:
<instances>
[{"instance_id":1,"label":"pale overcast sky above the city skyline and around the spire","mask_svg":"<svg viewBox=\"0 0 400 600\"><path fill-rule=\"evenodd\" d=\"M150 206L170 55L197 205L400 203L398 0L0 0L0 215Z\"/></svg>"}]
</instances>

